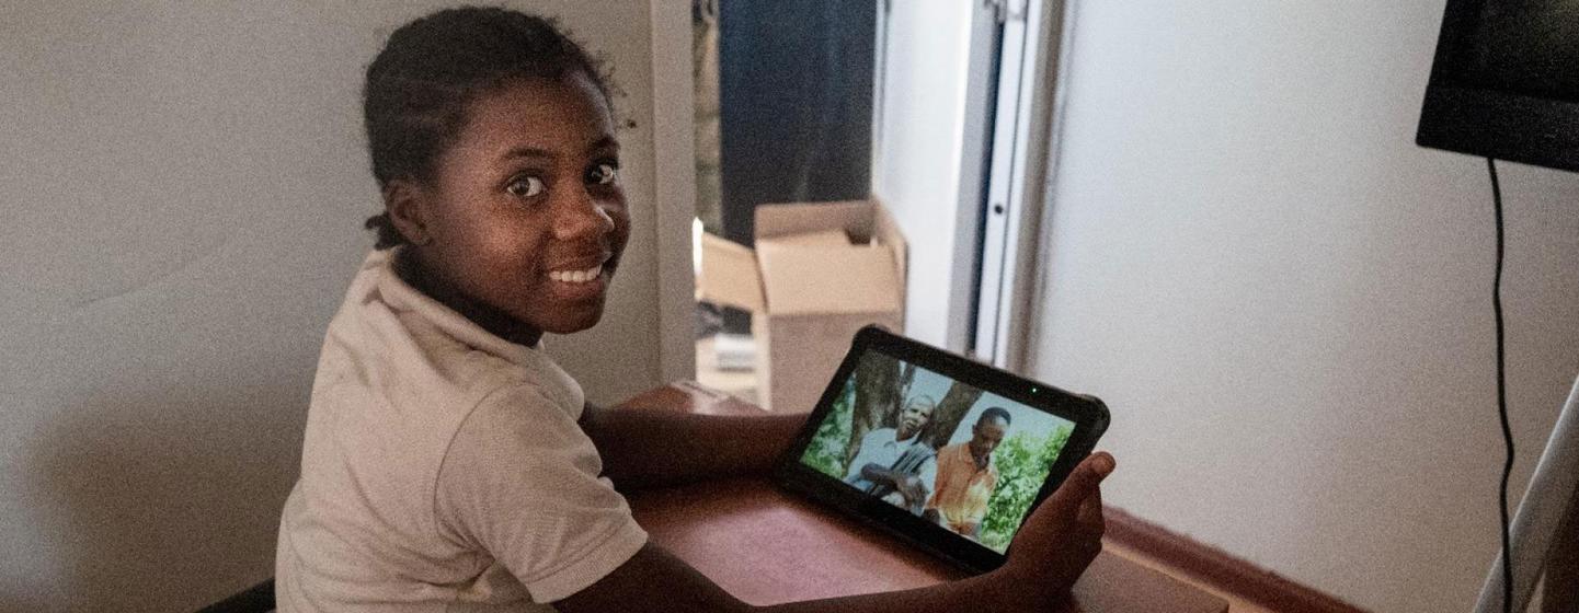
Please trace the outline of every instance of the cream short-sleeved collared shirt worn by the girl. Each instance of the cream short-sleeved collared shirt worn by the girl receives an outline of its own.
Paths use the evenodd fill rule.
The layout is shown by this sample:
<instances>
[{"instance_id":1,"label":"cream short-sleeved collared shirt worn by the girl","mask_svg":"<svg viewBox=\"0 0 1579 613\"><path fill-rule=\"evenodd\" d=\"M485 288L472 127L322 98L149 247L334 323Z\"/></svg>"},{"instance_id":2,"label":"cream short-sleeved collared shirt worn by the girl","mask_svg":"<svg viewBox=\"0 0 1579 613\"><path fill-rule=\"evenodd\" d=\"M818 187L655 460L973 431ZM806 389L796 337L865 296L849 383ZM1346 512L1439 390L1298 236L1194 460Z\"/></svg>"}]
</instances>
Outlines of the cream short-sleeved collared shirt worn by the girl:
<instances>
[{"instance_id":1,"label":"cream short-sleeved collared shirt worn by the girl","mask_svg":"<svg viewBox=\"0 0 1579 613\"><path fill-rule=\"evenodd\" d=\"M275 555L292 611L546 611L647 534L600 477L581 386L363 262L328 325Z\"/></svg>"}]
</instances>

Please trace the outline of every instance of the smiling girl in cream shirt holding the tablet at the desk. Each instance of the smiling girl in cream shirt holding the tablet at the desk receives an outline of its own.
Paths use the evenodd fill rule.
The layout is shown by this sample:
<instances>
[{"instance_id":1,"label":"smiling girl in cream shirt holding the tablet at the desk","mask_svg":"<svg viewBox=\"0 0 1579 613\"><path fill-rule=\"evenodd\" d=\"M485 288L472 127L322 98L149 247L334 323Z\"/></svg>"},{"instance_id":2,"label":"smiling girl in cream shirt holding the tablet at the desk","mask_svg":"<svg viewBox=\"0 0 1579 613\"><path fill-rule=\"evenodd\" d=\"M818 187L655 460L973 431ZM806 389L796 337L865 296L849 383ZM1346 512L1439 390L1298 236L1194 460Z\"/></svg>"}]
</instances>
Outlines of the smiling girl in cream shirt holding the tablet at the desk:
<instances>
[{"instance_id":1,"label":"smiling girl in cream shirt holding the tablet at the desk","mask_svg":"<svg viewBox=\"0 0 1579 613\"><path fill-rule=\"evenodd\" d=\"M586 408L540 345L598 321L630 236L595 63L543 19L452 9L390 35L363 96L385 211L324 340L279 610L747 608L649 544L614 484L764 471L799 418ZM1000 570L782 608L1048 610L1101 548L1112 466L1077 468Z\"/></svg>"}]
</instances>

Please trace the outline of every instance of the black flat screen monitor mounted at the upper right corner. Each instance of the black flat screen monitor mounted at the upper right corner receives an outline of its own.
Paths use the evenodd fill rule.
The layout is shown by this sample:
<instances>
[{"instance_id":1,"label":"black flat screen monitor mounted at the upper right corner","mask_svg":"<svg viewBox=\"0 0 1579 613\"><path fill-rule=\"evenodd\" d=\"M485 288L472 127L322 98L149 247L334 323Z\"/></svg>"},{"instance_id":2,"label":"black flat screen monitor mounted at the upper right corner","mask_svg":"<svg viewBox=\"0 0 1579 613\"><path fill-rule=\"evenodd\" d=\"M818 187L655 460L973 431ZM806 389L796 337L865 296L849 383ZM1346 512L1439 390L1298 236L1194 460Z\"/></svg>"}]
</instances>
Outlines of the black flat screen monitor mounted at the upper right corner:
<instances>
[{"instance_id":1,"label":"black flat screen monitor mounted at the upper right corner","mask_svg":"<svg viewBox=\"0 0 1579 613\"><path fill-rule=\"evenodd\" d=\"M1579 0L1448 0L1415 142L1579 170Z\"/></svg>"}]
</instances>

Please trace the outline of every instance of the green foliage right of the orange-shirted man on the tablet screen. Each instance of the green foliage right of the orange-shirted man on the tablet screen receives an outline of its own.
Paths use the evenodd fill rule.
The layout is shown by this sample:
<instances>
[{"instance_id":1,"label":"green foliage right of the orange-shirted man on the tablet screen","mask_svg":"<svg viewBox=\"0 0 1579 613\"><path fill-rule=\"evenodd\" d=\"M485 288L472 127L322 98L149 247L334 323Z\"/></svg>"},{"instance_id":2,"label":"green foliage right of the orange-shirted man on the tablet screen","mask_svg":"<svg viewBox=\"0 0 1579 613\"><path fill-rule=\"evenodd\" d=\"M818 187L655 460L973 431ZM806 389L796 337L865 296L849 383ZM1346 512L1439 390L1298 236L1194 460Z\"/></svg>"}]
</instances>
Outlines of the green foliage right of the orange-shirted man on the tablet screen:
<instances>
[{"instance_id":1,"label":"green foliage right of the orange-shirted man on the tablet screen","mask_svg":"<svg viewBox=\"0 0 1579 613\"><path fill-rule=\"evenodd\" d=\"M1009 539L1020 528L1025 512L1036 501L1036 492L1047 481L1058 454L1069 443L1071 425L1060 425L1047 437L1015 433L993 451L998 466L998 487L987 501L987 517L982 518L981 542L1003 553Z\"/></svg>"}]
</instances>

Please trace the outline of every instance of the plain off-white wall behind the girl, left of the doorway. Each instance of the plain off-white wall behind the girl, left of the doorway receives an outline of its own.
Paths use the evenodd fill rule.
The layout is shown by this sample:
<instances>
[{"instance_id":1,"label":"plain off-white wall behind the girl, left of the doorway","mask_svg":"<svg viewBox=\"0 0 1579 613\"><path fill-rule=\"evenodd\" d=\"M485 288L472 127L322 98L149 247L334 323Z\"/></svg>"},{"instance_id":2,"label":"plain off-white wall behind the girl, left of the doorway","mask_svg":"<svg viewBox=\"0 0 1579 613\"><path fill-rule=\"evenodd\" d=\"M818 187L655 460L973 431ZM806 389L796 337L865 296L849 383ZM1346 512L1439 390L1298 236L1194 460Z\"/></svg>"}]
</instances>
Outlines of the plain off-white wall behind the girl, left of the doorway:
<instances>
[{"instance_id":1,"label":"plain off-white wall behind the girl, left of the doorway","mask_svg":"<svg viewBox=\"0 0 1579 613\"><path fill-rule=\"evenodd\" d=\"M362 71L439 3L313 5L0 9L0 610L194 610L272 574L322 331L379 206ZM551 339L611 402L690 355L690 279L671 279L690 257L655 255L688 244L657 222L685 194L654 156L655 124L690 147L654 91L690 85L655 84L652 57L654 24L688 41L668 14L688 6L532 6L609 58L635 121L608 314ZM677 350L660 321L685 326Z\"/></svg>"}]
</instances>

